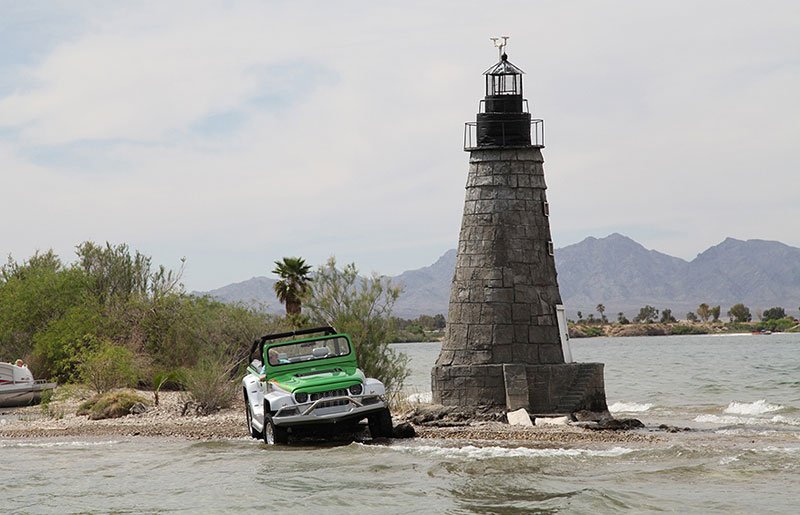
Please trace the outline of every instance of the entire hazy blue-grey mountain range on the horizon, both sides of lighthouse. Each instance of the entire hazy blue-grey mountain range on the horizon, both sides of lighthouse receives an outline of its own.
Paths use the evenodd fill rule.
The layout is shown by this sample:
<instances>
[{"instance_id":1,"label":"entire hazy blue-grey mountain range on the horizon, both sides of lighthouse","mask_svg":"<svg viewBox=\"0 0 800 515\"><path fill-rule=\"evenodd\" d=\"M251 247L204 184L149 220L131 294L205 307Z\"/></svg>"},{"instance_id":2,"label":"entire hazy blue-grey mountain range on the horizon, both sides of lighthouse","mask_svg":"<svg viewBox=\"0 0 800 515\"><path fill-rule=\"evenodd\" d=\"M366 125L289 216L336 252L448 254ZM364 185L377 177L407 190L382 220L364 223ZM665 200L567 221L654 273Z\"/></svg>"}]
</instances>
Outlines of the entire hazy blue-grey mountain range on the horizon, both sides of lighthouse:
<instances>
[{"instance_id":1,"label":"entire hazy blue-grey mountain range on the horizon, both sides of lighthouse","mask_svg":"<svg viewBox=\"0 0 800 515\"><path fill-rule=\"evenodd\" d=\"M619 312L632 318L646 304L669 308L677 318L696 310L701 302L720 305L723 315L739 302L754 314L774 306L796 313L800 306L800 249L777 241L726 238L686 261L615 233L556 249L555 258L570 317L578 311L595 313L598 304L606 307L611 319ZM455 263L452 249L430 266L392 277L404 287L395 315L447 314ZM274 279L253 277L199 293L281 312L274 284Z\"/></svg>"}]
</instances>

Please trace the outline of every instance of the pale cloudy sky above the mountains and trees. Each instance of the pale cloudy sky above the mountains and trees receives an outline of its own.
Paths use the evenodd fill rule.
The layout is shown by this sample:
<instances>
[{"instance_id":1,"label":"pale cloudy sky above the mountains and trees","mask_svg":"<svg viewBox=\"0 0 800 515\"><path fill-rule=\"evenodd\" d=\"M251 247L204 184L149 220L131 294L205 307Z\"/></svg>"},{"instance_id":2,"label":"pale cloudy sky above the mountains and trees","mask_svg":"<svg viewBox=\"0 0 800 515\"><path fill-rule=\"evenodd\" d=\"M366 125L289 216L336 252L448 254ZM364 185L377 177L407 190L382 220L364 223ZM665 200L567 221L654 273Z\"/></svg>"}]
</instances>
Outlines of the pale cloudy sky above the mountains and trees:
<instances>
[{"instance_id":1,"label":"pale cloudy sky above the mountains and trees","mask_svg":"<svg viewBox=\"0 0 800 515\"><path fill-rule=\"evenodd\" d=\"M800 2L0 0L0 254L127 243L209 290L456 246L510 36L556 247L800 246Z\"/></svg>"}]
</instances>

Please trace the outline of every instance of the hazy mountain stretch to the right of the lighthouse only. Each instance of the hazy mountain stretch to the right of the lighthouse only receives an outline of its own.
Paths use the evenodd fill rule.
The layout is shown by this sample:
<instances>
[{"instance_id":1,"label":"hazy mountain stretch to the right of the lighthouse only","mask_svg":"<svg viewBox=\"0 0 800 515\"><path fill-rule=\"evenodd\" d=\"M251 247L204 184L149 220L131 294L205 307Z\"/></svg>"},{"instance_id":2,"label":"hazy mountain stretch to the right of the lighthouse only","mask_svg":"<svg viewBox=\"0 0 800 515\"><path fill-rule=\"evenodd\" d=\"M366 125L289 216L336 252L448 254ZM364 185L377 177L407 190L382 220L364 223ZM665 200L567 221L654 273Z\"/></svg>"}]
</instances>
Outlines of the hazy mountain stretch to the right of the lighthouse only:
<instances>
[{"instance_id":1,"label":"hazy mountain stretch to the right of the lighthouse only","mask_svg":"<svg viewBox=\"0 0 800 515\"><path fill-rule=\"evenodd\" d=\"M800 249L777 241L727 238L685 261L612 234L558 249L556 267L570 313L595 313L599 303L609 318L620 311L631 318L645 304L670 308L678 318L701 302L722 306L723 316L738 302L754 315L800 306Z\"/></svg>"}]
</instances>

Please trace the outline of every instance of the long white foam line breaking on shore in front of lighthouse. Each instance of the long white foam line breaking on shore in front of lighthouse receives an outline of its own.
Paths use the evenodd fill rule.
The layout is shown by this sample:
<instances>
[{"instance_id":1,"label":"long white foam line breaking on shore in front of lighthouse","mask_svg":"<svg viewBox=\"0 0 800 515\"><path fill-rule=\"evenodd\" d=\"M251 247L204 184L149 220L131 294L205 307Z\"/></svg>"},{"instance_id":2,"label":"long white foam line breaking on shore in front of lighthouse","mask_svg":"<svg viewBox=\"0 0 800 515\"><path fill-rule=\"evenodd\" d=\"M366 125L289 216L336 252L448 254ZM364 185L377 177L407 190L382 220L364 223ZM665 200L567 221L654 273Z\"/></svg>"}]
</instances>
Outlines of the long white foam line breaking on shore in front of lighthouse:
<instances>
[{"instance_id":1,"label":"long white foam line breaking on shore in front of lighthouse","mask_svg":"<svg viewBox=\"0 0 800 515\"><path fill-rule=\"evenodd\" d=\"M611 449L532 449L530 447L476 447L467 445L465 447L438 447L435 445L420 446L391 446L389 449L412 453L437 456L441 458L466 458L466 459L489 459L489 458L556 458L556 457L616 457L634 452L627 447L613 447Z\"/></svg>"}]
</instances>

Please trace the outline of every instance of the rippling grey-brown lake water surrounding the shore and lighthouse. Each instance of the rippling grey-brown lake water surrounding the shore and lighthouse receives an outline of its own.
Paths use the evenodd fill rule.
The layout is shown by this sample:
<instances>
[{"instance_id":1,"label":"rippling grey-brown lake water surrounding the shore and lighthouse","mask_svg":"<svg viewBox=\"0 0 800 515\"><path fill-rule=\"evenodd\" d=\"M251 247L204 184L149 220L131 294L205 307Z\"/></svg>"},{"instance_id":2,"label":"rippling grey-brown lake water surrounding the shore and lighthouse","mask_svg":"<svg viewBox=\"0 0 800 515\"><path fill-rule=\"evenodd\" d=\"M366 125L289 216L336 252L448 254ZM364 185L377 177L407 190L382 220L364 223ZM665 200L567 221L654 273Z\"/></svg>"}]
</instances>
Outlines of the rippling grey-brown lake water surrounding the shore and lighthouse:
<instances>
[{"instance_id":1,"label":"rippling grey-brown lake water surrounding the shore and lighthouse","mask_svg":"<svg viewBox=\"0 0 800 515\"><path fill-rule=\"evenodd\" d=\"M646 444L267 448L251 439L0 441L4 513L795 513L800 335L574 340L606 363L608 402L648 426L695 431ZM396 345L430 391L435 343Z\"/></svg>"}]
</instances>

